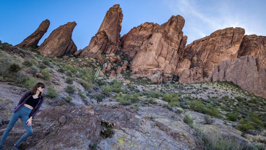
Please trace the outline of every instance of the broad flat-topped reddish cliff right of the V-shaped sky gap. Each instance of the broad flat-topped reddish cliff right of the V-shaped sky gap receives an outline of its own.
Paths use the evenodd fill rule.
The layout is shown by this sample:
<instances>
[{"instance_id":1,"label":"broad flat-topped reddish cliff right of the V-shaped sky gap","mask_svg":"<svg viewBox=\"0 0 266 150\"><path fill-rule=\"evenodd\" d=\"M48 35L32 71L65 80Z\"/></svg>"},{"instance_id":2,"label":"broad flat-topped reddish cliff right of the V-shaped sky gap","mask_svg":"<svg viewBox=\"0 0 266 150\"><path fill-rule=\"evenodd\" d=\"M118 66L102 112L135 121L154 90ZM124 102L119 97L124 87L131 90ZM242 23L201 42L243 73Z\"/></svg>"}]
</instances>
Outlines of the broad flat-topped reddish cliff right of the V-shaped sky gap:
<instances>
[{"instance_id":1,"label":"broad flat-topped reddish cliff right of the V-shaped sky gap","mask_svg":"<svg viewBox=\"0 0 266 150\"><path fill-rule=\"evenodd\" d=\"M245 30L240 27L217 30L187 45L184 57L191 58L191 68L197 63L202 63L203 76L208 77L215 65L224 60L237 58L244 33Z\"/></svg>"}]
</instances>

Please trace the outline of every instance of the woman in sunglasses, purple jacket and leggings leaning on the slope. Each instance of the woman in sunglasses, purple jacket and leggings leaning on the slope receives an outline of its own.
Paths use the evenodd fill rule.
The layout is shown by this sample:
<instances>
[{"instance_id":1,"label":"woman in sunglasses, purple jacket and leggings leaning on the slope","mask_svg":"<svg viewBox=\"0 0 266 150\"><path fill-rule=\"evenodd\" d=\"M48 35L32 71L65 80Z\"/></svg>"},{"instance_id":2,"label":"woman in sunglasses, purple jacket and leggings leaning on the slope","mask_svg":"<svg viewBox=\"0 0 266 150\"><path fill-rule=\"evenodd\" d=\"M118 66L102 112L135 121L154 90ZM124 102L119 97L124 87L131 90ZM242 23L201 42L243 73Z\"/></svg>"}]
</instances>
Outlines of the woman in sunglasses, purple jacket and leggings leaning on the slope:
<instances>
[{"instance_id":1,"label":"woman in sunglasses, purple jacket and leggings leaning on the slope","mask_svg":"<svg viewBox=\"0 0 266 150\"><path fill-rule=\"evenodd\" d=\"M27 137L32 134L32 126L31 121L36 113L39 111L41 104L43 104L43 96L41 96L41 92L43 92L45 85L41 82L34 85L31 91L27 91L20 101L18 102L18 106L14 108L10 122L2 135L1 142L0 142L0 150L2 150L2 146L11 131L14 127L18 118L21 119L24 128L26 129L26 133L20 137L20 139L13 145L16 149L18 145Z\"/></svg>"}]
</instances>

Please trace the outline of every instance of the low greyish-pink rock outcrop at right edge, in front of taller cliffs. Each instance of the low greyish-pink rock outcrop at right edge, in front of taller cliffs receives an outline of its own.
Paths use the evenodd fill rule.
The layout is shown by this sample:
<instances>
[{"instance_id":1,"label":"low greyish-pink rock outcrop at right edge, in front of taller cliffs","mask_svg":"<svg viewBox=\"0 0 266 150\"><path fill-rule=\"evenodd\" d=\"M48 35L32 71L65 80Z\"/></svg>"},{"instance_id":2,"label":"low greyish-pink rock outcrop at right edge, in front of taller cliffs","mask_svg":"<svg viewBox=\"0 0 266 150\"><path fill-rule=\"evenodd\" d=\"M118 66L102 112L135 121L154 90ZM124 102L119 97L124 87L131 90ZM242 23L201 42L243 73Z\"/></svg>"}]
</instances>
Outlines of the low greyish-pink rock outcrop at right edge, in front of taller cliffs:
<instances>
[{"instance_id":1,"label":"low greyish-pink rock outcrop at right edge, in front of taller cliffs","mask_svg":"<svg viewBox=\"0 0 266 150\"><path fill-rule=\"evenodd\" d=\"M244 90L266 97L266 69L259 58L251 55L216 65L208 81L232 81Z\"/></svg>"}]
</instances>

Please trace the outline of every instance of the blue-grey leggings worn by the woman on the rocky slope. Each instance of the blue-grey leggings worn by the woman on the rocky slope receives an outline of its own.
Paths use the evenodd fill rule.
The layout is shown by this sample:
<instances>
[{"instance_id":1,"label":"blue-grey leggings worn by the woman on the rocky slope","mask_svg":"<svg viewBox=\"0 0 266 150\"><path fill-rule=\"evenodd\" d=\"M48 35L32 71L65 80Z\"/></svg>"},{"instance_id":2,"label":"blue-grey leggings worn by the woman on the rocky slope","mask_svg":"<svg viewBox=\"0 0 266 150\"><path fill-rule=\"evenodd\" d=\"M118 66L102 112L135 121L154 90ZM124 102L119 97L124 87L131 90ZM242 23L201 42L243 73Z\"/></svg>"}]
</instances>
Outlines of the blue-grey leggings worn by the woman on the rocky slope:
<instances>
[{"instance_id":1,"label":"blue-grey leggings worn by the woman on the rocky slope","mask_svg":"<svg viewBox=\"0 0 266 150\"><path fill-rule=\"evenodd\" d=\"M30 113L31 113L31 109L26 107L26 106L24 106L24 105L19 110L17 110L16 112L12 112L10 122L9 122L5 132L2 135L0 145L4 144L9 132L14 127L14 125L15 125L16 121L18 120L18 118L21 119L22 124L23 124L23 126L24 126L24 128L26 129L27 132L20 137L20 139L16 142L16 144L19 145L22 141L27 139L27 137L29 137L32 134L32 127L31 127L32 125L30 127L28 127L27 123L26 123L27 120L30 118L29 117Z\"/></svg>"}]
</instances>

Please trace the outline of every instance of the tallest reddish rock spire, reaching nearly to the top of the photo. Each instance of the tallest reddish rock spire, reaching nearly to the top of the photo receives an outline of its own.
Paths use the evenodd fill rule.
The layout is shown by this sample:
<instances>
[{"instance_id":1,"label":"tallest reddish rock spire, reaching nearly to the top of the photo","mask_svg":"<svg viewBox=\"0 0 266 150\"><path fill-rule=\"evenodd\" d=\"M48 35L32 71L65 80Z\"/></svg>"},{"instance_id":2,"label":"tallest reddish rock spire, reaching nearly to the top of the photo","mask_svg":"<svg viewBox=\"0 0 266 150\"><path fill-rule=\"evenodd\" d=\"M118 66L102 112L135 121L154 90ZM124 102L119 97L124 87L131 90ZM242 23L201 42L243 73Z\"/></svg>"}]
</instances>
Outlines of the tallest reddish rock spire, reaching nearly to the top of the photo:
<instances>
[{"instance_id":1,"label":"tallest reddish rock spire, reaching nearly to the top of the photo","mask_svg":"<svg viewBox=\"0 0 266 150\"><path fill-rule=\"evenodd\" d=\"M95 53L116 53L120 46L120 31L123 19L122 9L120 5L114 5L107 12L103 22L86 46L80 53L79 58L91 57ZM95 56L94 56L95 57Z\"/></svg>"}]
</instances>

